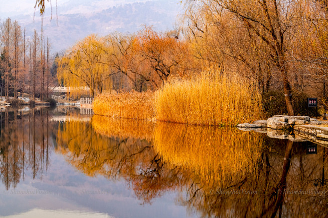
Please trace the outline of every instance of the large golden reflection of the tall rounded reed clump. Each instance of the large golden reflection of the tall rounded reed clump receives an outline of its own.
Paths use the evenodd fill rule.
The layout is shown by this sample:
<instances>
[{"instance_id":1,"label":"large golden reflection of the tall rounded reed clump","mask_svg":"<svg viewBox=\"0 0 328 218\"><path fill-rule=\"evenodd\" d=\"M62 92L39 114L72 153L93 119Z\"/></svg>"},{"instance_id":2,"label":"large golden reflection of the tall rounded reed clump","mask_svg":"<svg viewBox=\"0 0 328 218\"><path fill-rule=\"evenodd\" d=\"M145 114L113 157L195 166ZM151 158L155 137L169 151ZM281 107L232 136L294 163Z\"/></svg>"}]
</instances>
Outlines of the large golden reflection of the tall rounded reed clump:
<instances>
[{"instance_id":1,"label":"large golden reflection of the tall rounded reed clump","mask_svg":"<svg viewBox=\"0 0 328 218\"><path fill-rule=\"evenodd\" d=\"M155 149L164 161L183 166L206 184L242 178L259 161L263 136L231 128L158 123Z\"/></svg>"}]
</instances>

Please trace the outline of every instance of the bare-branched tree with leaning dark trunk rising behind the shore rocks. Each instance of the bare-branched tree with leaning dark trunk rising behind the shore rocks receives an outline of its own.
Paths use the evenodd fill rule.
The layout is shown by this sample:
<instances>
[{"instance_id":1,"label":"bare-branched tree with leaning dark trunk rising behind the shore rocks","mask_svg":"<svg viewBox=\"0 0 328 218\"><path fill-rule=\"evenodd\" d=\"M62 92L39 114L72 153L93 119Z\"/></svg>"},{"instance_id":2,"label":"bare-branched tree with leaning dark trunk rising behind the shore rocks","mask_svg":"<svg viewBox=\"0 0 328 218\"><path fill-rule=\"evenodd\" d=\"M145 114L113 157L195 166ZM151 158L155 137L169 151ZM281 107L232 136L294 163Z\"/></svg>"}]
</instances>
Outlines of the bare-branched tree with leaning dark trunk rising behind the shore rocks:
<instances>
[{"instance_id":1,"label":"bare-branched tree with leaning dark trunk rising behind the shore rocks","mask_svg":"<svg viewBox=\"0 0 328 218\"><path fill-rule=\"evenodd\" d=\"M301 0L185 0L185 2L186 13L189 11L194 14L198 13L198 17L190 21L198 31L206 33L201 29L201 23L205 23L206 25L203 26L208 28L220 25L220 19L217 17L228 17L232 23L238 22L240 32L252 35L245 38L247 40L244 40L244 43L256 42L265 46L266 54L263 57L274 63L279 72L288 114L294 115L288 56L292 52L290 42L294 37L293 31L297 27L295 19L300 11ZM207 35L201 37L207 37Z\"/></svg>"}]
</instances>

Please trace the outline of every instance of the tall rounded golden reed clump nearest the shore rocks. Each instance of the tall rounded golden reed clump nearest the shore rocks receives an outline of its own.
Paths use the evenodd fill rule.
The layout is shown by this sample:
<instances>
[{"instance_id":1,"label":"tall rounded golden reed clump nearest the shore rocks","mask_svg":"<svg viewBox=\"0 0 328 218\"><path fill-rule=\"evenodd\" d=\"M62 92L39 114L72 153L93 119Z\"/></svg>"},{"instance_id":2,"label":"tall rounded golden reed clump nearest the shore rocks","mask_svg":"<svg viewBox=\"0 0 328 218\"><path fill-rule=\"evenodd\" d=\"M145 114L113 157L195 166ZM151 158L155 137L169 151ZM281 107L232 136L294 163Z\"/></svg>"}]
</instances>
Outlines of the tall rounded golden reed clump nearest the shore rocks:
<instances>
[{"instance_id":1,"label":"tall rounded golden reed clump nearest the shore rocks","mask_svg":"<svg viewBox=\"0 0 328 218\"><path fill-rule=\"evenodd\" d=\"M253 82L213 71L166 83L155 94L155 108L157 120L193 125L236 126L263 116Z\"/></svg>"}]
</instances>

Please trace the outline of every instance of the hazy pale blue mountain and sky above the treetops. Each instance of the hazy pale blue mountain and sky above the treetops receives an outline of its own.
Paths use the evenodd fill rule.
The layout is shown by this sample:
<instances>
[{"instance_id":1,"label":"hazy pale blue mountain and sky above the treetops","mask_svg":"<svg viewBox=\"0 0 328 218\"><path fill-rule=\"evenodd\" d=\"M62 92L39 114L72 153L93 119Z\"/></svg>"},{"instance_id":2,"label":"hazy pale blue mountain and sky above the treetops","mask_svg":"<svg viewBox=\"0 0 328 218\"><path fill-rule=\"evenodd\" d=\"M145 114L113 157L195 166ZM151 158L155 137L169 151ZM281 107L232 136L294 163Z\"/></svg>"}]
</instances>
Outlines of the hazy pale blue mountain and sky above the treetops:
<instances>
[{"instance_id":1,"label":"hazy pale blue mountain and sky above the treetops","mask_svg":"<svg viewBox=\"0 0 328 218\"><path fill-rule=\"evenodd\" d=\"M182 9L179 0L131 1L112 0L107 4L95 1L97 4L92 4L92 0L70 0L58 6L58 16L53 6L51 21L50 8L46 9L43 30L51 41L52 52L67 49L92 33L100 36L114 31L133 33L144 24L164 31L172 28ZM12 19L26 27L27 35L32 36L34 29L40 34L41 19L37 11L34 18L33 15L18 15Z\"/></svg>"}]
</instances>

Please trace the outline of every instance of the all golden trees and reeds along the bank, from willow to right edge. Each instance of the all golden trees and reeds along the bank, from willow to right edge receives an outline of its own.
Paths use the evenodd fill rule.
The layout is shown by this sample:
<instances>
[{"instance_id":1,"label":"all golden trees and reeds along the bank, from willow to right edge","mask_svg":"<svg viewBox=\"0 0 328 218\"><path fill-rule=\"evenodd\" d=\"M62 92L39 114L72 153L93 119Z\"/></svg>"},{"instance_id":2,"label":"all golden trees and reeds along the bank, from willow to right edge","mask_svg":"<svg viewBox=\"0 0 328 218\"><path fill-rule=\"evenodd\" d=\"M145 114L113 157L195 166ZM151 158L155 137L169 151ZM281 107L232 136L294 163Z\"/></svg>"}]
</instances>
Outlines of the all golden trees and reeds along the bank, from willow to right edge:
<instances>
[{"instance_id":1,"label":"all golden trees and reeds along the bank, from willow to right edge","mask_svg":"<svg viewBox=\"0 0 328 218\"><path fill-rule=\"evenodd\" d=\"M60 82L100 93L95 113L105 116L236 125L271 114L277 95L289 115L305 115L307 97L318 97L326 113L323 1L182 2L184 19L173 30L144 26L81 40L57 58Z\"/></svg>"}]
</instances>

